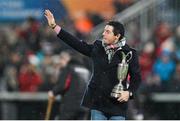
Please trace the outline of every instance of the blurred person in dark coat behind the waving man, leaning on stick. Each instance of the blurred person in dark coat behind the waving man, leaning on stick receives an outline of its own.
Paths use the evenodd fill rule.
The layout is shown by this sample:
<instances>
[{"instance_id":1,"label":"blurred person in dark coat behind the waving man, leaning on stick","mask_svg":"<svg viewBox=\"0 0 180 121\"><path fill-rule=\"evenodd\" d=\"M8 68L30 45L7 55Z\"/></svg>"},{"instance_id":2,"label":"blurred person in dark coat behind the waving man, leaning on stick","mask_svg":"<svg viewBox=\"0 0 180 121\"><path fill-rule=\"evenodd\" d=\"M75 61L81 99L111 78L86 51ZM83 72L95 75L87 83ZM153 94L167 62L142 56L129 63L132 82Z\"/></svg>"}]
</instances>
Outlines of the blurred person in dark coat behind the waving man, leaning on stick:
<instances>
[{"instance_id":1,"label":"blurred person in dark coat behind the waving man, leaning on stick","mask_svg":"<svg viewBox=\"0 0 180 121\"><path fill-rule=\"evenodd\" d=\"M80 107L83 91L86 88L89 71L81 63L73 58L68 51L60 54L59 75L56 85L48 92L49 97L54 98L61 95L60 111L57 119L60 120L82 120L85 119L87 110ZM84 72L82 72L82 70Z\"/></svg>"}]
</instances>

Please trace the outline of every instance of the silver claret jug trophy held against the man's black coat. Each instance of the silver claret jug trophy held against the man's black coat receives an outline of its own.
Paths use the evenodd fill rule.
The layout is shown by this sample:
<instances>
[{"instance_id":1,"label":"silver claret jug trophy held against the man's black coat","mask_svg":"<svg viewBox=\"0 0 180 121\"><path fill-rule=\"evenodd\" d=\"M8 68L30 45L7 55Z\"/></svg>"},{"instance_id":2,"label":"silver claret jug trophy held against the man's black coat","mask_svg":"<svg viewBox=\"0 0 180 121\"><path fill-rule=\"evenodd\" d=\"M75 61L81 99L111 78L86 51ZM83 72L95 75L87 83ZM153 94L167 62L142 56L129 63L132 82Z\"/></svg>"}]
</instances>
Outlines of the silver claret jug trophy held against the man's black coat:
<instances>
[{"instance_id":1,"label":"silver claret jug trophy held against the man's black coat","mask_svg":"<svg viewBox=\"0 0 180 121\"><path fill-rule=\"evenodd\" d=\"M122 53L122 61L121 63L118 64L118 68L117 68L117 77L118 77L119 83L114 86L111 92L111 97L114 97L114 98L118 98L121 95L121 91L124 90L122 81L127 76L128 67L129 67L128 62L132 58L132 51L128 52L126 55L124 52L121 52L121 53ZM127 60L127 57L129 58L128 60Z\"/></svg>"}]
</instances>

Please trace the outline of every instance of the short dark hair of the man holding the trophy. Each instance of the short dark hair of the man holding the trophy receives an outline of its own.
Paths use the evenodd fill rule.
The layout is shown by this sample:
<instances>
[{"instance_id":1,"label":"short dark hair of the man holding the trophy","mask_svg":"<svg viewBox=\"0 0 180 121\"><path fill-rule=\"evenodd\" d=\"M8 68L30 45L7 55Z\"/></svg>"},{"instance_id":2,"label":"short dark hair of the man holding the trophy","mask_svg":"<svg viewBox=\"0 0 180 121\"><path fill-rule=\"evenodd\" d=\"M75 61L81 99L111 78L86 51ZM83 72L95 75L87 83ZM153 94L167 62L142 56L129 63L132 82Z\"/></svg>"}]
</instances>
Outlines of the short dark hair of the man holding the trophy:
<instances>
[{"instance_id":1,"label":"short dark hair of the man holding the trophy","mask_svg":"<svg viewBox=\"0 0 180 121\"><path fill-rule=\"evenodd\" d=\"M113 33L114 35L120 34L121 37L119 39L122 39L124 37L124 25L118 21L109 21L106 25L110 25L113 27Z\"/></svg>"}]
</instances>

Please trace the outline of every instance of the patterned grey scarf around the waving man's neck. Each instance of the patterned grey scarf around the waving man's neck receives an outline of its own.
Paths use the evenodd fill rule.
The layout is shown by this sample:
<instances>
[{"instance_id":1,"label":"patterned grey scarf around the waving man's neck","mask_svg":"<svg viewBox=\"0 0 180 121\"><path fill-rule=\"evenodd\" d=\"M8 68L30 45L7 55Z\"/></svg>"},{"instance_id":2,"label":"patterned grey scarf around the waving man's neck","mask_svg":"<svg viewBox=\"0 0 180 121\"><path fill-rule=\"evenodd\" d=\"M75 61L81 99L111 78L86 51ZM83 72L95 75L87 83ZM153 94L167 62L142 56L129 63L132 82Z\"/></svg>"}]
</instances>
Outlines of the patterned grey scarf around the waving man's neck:
<instances>
[{"instance_id":1,"label":"patterned grey scarf around the waving man's neck","mask_svg":"<svg viewBox=\"0 0 180 121\"><path fill-rule=\"evenodd\" d=\"M119 40L118 42L114 43L114 44L106 44L104 43L104 41L102 40L102 46L104 47L104 50L106 52L106 54L108 55L108 62L110 63L115 52L117 50L122 49L122 47L126 44L126 38L123 37L121 40Z\"/></svg>"}]
</instances>

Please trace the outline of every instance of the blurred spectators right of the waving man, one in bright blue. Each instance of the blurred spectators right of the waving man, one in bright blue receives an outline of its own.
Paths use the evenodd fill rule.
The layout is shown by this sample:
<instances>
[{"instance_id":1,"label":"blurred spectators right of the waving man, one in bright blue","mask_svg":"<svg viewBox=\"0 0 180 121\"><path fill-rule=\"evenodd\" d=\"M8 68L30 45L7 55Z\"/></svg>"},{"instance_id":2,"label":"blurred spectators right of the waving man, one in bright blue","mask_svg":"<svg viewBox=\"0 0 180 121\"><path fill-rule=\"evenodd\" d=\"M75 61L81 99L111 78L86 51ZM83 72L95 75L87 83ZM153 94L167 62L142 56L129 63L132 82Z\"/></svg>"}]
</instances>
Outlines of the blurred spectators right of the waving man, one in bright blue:
<instances>
[{"instance_id":1,"label":"blurred spectators right of the waving man, one in bright blue","mask_svg":"<svg viewBox=\"0 0 180 121\"><path fill-rule=\"evenodd\" d=\"M159 23L140 51L143 82L138 92L138 113L142 113L144 119L179 119L174 103L157 103L151 98L152 93L180 91L179 28L167 22Z\"/></svg>"}]
</instances>

